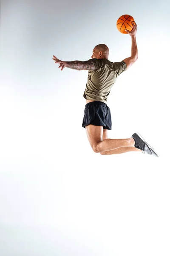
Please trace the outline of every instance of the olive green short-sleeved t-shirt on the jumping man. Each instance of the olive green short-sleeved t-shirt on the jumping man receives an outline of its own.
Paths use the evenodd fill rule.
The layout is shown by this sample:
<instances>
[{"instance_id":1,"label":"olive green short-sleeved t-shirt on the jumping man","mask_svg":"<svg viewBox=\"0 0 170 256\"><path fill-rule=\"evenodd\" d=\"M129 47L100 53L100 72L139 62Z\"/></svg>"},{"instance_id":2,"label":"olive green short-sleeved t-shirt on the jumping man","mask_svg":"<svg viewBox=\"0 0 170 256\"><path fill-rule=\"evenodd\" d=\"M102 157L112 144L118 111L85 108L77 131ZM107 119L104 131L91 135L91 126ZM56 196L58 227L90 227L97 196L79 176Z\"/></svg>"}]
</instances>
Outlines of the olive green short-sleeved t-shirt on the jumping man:
<instances>
[{"instance_id":1,"label":"olive green short-sleeved t-shirt on the jumping man","mask_svg":"<svg viewBox=\"0 0 170 256\"><path fill-rule=\"evenodd\" d=\"M118 76L126 70L126 63L92 58L95 69L88 71L88 82L83 94L85 99L107 102L111 87Z\"/></svg>"}]
</instances>

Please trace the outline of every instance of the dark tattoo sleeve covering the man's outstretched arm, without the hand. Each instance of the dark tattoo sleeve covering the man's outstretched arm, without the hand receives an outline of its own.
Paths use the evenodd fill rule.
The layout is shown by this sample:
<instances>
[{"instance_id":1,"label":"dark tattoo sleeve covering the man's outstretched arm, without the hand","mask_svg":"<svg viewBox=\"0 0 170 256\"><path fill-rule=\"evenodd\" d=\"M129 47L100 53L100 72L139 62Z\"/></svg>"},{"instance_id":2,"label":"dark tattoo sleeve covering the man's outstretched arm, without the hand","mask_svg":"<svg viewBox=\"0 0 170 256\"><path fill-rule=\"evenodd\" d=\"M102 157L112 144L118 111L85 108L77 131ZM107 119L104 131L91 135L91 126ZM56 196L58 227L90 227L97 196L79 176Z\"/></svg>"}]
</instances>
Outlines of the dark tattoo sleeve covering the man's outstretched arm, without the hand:
<instances>
[{"instance_id":1,"label":"dark tattoo sleeve covering the man's outstretched arm, without the hand","mask_svg":"<svg viewBox=\"0 0 170 256\"><path fill-rule=\"evenodd\" d=\"M65 61L66 67L75 70L94 70L94 64L91 61Z\"/></svg>"}]
</instances>

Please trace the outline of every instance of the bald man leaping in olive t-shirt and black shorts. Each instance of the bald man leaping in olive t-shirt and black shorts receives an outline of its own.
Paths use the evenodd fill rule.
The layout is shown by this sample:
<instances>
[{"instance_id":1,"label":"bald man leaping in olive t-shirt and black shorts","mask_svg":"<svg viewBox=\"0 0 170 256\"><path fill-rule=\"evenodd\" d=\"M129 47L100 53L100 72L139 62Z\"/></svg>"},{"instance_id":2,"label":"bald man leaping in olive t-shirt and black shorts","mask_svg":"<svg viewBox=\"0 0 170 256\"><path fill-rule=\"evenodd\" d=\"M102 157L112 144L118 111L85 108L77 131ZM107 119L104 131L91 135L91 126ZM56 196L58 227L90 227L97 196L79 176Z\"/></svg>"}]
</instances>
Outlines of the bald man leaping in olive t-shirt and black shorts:
<instances>
[{"instance_id":1,"label":"bald man leaping in olive t-shirt and black shorts","mask_svg":"<svg viewBox=\"0 0 170 256\"><path fill-rule=\"evenodd\" d=\"M133 30L126 30L132 39L131 56L121 62L108 60L109 49L105 44L94 47L91 59L88 61L61 61L53 55L59 68L69 67L74 70L88 70L88 81L84 92L86 99L85 115L82 127L86 129L87 137L94 152L102 155L121 154L128 151L142 151L158 157L156 151L141 137L134 133L128 139L109 139L111 130L111 111L106 105L111 87L118 76L127 70L138 59L136 45L137 25Z\"/></svg>"}]
</instances>

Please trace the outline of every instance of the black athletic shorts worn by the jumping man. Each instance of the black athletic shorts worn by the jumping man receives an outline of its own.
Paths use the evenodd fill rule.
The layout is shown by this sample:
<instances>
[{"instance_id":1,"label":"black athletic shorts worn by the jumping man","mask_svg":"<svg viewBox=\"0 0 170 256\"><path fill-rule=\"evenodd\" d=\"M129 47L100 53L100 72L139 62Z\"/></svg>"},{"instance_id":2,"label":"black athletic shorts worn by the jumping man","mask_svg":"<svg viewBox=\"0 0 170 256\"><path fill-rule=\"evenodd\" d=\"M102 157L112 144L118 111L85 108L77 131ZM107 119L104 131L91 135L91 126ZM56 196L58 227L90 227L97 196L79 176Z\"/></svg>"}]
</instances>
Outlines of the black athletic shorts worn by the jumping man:
<instances>
[{"instance_id":1,"label":"black athletic shorts worn by the jumping man","mask_svg":"<svg viewBox=\"0 0 170 256\"><path fill-rule=\"evenodd\" d=\"M103 126L104 129L111 130L111 111L104 102L94 101L85 105L85 115L82 127L87 125Z\"/></svg>"}]
</instances>

